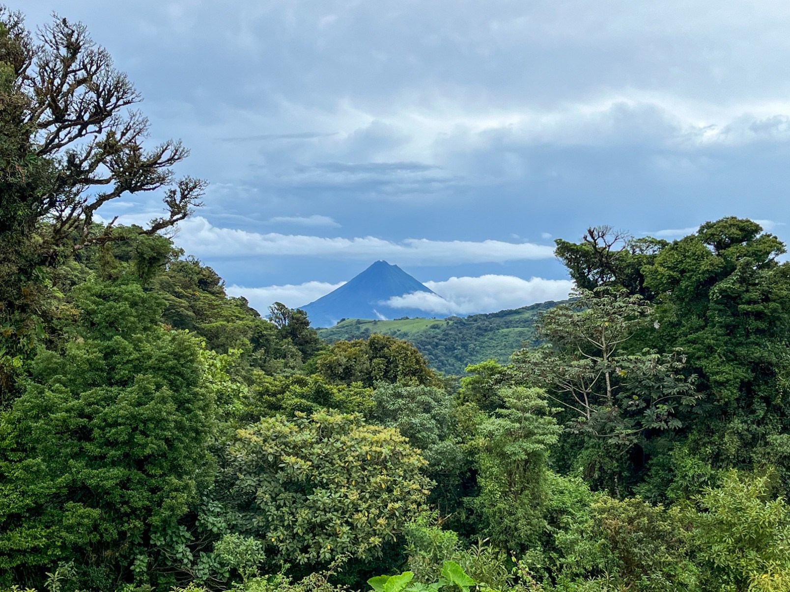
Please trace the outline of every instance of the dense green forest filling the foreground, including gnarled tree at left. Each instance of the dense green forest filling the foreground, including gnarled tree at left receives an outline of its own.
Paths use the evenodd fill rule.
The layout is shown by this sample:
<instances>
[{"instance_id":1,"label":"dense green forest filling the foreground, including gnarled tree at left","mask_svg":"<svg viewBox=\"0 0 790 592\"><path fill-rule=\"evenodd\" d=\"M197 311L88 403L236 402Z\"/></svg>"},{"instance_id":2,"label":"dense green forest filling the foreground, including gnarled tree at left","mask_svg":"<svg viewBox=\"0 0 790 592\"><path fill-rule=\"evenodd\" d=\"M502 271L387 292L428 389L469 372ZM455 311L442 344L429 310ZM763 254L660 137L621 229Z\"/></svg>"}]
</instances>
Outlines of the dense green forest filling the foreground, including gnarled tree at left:
<instances>
[{"instance_id":1,"label":"dense green forest filling the foreground, including gnarled tree at left","mask_svg":"<svg viewBox=\"0 0 790 592\"><path fill-rule=\"evenodd\" d=\"M777 237L560 240L570 302L415 337L460 380L397 336L325 346L157 232L201 183L168 185L185 152L142 145L85 28L0 23L0 590L790 590ZM151 226L96 223L167 186Z\"/></svg>"}]
</instances>

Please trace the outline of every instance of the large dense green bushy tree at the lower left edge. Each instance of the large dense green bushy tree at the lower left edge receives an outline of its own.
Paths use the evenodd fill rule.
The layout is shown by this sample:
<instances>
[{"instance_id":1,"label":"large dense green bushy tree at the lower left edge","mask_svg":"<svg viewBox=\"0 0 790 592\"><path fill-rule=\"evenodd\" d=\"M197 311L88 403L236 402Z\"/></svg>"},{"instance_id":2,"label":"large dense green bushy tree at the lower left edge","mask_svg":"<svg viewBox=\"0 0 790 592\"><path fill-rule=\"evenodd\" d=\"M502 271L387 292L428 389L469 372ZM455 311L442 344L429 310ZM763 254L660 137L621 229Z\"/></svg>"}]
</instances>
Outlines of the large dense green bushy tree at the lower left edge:
<instances>
[{"instance_id":1,"label":"large dense green bushy tree at the lower left edge","mask_svg":"<svg viewBox=\"0 0 790 592\"><path fill-rule=\"evenodd\" d=\"M168 571L167 541L212 477L201 343L157 324L163 303L139 283L92 280L72 298L66 347L40 350L0 413L0 571Z\"/></svg>"}]
</instances>

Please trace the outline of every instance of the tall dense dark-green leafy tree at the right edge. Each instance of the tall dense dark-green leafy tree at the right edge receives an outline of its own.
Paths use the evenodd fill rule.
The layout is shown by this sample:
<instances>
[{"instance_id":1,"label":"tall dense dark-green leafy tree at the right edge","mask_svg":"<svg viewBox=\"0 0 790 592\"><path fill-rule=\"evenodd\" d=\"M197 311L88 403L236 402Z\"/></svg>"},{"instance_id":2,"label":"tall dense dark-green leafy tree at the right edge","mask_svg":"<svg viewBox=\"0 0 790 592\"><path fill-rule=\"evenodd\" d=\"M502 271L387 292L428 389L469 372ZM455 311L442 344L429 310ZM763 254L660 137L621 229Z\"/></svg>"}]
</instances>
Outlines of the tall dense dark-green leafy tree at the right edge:
<instances>
[{"instance_id":1,"label":"tall dense dark-green leafy tree at the right edge","mask_svg":"<svg viewBox=\"0 0 790 592\"><path fill-rule=\"evenodd\" d=\"M751 220L724 218L672 243L645 267L660 328L682 347L703 395L684 417L690 452L717 468L787 458L790 264L784 245ZM777 470L785 482L784 463Z\"/></svg>"}]
</instances>

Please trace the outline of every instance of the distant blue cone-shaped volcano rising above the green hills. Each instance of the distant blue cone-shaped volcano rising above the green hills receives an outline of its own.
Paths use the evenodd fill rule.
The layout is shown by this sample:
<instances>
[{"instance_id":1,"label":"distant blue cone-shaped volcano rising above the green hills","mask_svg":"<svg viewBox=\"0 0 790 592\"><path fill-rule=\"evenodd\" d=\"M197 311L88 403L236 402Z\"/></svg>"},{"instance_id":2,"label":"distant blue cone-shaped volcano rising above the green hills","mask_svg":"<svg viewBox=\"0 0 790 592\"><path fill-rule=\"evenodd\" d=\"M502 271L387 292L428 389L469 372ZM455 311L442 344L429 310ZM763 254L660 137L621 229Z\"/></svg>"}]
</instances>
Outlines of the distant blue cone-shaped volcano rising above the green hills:
<instances>
[{"instance_id":1,"label":"distant blue cone-shaped volcano rising above the green hills","mask_svg":"<svg viewBox=\"0 0 790 592\"><path fill-rule=\"evenodd\" d=\"M425 312L418 309L394 309L383 304L389 298L412 292L433 294L397 265L376 261L337 290L299 308L307 312L314 327L330 327L344 318L387 319L424 315Z\"/></svg>"}]
</instances>

